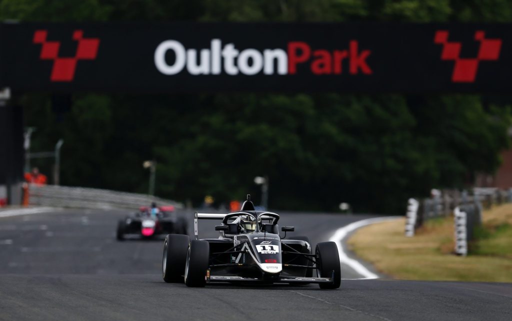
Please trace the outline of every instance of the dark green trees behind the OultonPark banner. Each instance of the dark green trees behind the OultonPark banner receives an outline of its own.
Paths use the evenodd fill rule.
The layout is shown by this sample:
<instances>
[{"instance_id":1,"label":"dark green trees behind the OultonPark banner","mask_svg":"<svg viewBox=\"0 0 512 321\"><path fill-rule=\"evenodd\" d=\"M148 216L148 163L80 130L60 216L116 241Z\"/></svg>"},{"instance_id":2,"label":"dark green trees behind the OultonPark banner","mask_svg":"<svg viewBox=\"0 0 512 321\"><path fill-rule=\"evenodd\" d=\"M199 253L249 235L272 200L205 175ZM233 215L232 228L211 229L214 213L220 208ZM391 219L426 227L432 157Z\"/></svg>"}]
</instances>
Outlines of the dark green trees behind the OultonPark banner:
<instances>
[{"instance_id":1,"label":"dark green trees behind the OultonPark banner","mask_svg":"<svg viewBox=\"0 0 512 321\"><path fill-rule=\"evenodd\" d=\"M0 0L0 18L26 22L512 22L509 0ZM62 182L199 204L242 198L270 178L273 208L403 212L432 187L467 187L493 173L509 145L509 98L477 95L76 94L61 115L27 94L33 150L59 138ZM57 115L57 116L56 116Z\"/></svg>"}]
</instances>

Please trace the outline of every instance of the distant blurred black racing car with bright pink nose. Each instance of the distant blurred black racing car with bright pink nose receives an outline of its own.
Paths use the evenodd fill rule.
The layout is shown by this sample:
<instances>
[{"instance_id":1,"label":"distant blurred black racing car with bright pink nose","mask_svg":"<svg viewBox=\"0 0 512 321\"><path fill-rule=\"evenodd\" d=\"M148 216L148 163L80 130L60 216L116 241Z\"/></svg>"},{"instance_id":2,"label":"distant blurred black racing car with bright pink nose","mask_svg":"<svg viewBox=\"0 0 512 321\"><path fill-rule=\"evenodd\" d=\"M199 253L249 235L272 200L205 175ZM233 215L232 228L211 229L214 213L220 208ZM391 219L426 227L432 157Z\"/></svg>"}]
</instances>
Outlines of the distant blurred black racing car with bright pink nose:
<instances>
[{"instance_id":1,"label":"distant blurred black racing car with bright pink nose","mask_svg":"<svg viewBox=\"0 0 512 321\"><path fill-rule=\"evenodd\" d=\"M116 237L122 241L126 237L151 239L169 233L187 234L187 222L176 215L174 206L160 206L155 215L151 208L140 207L132 216L119 220Z\"/></svg>"}]
</instances>

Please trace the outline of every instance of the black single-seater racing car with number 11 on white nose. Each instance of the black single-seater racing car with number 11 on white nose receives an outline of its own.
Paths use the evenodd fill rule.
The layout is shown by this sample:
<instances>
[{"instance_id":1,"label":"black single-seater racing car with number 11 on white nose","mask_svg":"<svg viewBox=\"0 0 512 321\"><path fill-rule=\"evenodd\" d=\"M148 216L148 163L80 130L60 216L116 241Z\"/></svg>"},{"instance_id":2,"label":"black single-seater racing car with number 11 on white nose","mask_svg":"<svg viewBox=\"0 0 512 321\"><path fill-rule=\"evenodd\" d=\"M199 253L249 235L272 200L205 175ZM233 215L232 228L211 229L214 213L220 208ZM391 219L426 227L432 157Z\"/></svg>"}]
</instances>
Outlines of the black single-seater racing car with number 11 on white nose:
<instances>
[{"instance_id":1,"label":"black single-seater racing car with number 11 on white nose","mask_svg":"<svg viewBox=\"0 0 512 321\"><path fill-rule=\"evenodd\" d=\"M198 220L220 219L218 239L198 237ZM307 240L285 240L279 235L279 215L256 211L250 196L238 212L196 213L195 240L169 234L163 247L165 282L183 282L191 287L208 283L317 283L322 289L339 288L341 267L336 243L322 242L312 252ZM298 238L297 238L298 239ZM313 276L316 270L317 277Z\"/></svg>"}]
</instances>

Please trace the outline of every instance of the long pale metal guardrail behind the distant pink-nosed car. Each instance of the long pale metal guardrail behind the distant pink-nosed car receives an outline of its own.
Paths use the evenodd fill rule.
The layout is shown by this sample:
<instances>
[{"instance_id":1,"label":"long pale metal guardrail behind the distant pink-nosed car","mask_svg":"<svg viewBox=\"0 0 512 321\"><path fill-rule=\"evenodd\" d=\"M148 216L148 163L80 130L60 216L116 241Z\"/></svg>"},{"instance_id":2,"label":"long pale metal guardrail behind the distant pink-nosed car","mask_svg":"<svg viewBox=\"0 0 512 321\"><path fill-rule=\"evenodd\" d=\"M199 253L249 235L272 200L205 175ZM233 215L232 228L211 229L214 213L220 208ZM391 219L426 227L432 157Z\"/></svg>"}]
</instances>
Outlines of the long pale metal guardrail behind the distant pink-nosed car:
<instances>
[{"instance_id":1,"label":"long pale metal guardrail behind the distant pink-nosed car","mask_svg":"<svg viewBox=\"0 0 512 321\"><path fill-rule=\"evenodd\" d=\"M144 194L87 187L29 186L29 205L109 209L138 208L152 202L183 208L182 203Z\"/></svg>"}]
</instances>

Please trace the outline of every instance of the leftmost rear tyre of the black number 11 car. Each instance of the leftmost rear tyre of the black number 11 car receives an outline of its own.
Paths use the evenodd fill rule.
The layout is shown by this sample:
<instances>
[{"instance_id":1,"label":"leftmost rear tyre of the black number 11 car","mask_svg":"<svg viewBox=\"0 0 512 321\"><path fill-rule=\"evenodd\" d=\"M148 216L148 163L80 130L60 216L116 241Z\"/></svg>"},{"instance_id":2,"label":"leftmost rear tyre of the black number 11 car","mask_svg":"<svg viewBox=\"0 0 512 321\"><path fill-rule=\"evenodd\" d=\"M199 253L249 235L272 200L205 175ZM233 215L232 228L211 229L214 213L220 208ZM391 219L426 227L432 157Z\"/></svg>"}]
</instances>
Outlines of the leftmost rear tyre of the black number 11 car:
<instances>
[{"instance_id":1,"label":"leftmost rear tyre of the black number 11 car","mask_svg":"<svg viewBox=\"0 0 512 321\"><path fill-rule=\"evenodd\" d=\"M162 277L163 281L182 282L185 260L188 250L188 236L168 234L163 244Z\"/></svg>"}]
</instances>

